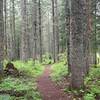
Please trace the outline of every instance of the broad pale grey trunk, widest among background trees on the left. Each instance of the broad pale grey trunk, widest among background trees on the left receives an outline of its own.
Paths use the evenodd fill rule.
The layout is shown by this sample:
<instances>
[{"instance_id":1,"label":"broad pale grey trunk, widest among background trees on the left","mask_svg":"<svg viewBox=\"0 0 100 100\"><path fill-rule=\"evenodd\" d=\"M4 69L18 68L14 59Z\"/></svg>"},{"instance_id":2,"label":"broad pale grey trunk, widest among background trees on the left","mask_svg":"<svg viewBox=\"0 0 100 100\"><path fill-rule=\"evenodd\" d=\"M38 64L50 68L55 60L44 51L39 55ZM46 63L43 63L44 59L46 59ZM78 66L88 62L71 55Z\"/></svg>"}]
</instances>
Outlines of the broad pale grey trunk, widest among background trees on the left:
<instances>
[{"instance_id":1,"label":"broad pale grey trunk, widest among background trees on the left","mask_svg":"<svg viewBox=\"0 0 100 100\"><path fill-rule=\"evenodd\" d=\"M21 0L22 33L21 33L21 54L22 61L28 60L28 32L27 32L27 12L26 0Z\"/></svg>"}]
</instances>

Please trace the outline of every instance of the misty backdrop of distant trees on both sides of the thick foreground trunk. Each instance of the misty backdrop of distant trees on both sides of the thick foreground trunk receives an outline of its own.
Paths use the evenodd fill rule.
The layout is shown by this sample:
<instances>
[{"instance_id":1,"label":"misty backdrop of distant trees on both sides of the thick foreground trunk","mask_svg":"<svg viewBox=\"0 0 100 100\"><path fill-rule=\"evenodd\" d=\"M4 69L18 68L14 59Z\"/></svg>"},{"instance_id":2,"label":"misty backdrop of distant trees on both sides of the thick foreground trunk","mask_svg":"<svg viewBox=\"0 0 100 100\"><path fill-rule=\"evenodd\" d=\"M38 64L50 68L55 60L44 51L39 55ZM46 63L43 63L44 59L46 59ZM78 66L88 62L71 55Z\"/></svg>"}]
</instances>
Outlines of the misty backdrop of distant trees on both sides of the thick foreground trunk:
<instances>
[{"instance_id":1,"label":"misty backdrop of distant trees on both sides of the thick foreground trunk","mask_svg":"<svg viewBox=\"0 0 100 100\"><path fill-rule=\"evenodd\" d=\"M52 6L51 1L45 0L28 0L22 3L20 0L4 0L5 57L7 59L39 59L45 54L54 58L54 55L57 56L58 53L66 51L69 39L70 3L67 0L55 1L54 14ZM99 1L92 1L90 8L92 15L90 50L92 63L96 63L96 52L99 54L100 49ZM57 33L55 37L54 33Z\"/></svg>"}]
</instances>

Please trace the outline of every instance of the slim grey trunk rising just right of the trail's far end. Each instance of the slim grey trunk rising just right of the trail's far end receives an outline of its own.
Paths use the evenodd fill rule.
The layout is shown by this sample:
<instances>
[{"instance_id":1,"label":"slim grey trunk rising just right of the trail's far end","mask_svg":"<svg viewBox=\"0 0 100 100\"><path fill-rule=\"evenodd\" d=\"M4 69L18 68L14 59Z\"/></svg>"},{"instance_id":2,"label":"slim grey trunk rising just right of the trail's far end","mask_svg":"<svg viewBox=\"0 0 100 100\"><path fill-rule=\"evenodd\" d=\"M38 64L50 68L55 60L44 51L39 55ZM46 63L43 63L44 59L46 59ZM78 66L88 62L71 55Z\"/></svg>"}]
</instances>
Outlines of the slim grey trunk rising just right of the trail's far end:
<instances>
[{"instance_id":1,"label":"slim grey trunk rising just right of the trail's far end","mask_svg":"<svg viewBox=\"0 0 100 100\"><path fill-rule=\"evenodd\" d=\"M59 60L59 32L58 32L57 0L52 0L52 18L53 18L53 58L54 58L54 62L57 62Z\"/></svg>"}]
</instances>

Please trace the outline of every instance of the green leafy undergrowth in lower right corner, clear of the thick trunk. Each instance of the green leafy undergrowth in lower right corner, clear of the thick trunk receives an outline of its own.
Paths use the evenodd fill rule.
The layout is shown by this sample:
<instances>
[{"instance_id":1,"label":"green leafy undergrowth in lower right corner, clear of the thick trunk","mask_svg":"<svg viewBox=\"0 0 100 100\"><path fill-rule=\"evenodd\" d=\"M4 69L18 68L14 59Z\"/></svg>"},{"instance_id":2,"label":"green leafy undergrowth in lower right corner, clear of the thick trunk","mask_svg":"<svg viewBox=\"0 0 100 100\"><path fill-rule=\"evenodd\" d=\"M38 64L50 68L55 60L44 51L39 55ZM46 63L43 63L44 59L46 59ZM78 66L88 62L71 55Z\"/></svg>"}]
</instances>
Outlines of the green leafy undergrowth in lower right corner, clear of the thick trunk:
<instances>
[{"instance_id":1,"label":"green leafy undergrowth in lower right corner, clear of the thick trunk","mask_svg":"<svg viewBox=\"0 0 100 100\"><path fill-rule=\"evenodd\" d=\"M84 95L84 100L100 99L100 65L90 69L90 73L85 79L85 86L86 93Z\"/></svg>"}]
</instances>

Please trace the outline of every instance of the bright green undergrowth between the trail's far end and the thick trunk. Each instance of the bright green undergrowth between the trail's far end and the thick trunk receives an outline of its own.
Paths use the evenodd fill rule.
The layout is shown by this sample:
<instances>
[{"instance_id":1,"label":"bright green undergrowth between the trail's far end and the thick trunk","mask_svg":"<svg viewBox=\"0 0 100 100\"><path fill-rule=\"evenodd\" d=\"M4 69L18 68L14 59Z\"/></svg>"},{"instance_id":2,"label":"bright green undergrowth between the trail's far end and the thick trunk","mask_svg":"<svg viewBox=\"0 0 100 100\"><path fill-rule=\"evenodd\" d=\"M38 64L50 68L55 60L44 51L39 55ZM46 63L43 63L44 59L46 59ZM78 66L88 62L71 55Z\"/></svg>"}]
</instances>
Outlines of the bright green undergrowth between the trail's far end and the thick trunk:
<instances>
[{"instance_id":1,"label":"bright green undergrowth between the trail's far end and the thick trunk","mask_svg":"<svg viewBox=\"0 0 100 100\"><path fill-rule=\"evenodd\" d=\"M66 58L66 53L59 54L59 62L52 65L51 78L53 81L59 82L68 75Z\"/></svg>"}]
</instances>

